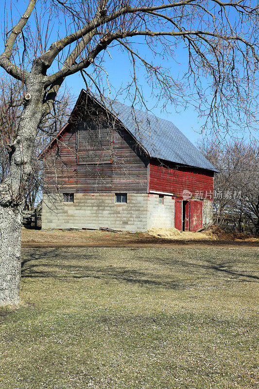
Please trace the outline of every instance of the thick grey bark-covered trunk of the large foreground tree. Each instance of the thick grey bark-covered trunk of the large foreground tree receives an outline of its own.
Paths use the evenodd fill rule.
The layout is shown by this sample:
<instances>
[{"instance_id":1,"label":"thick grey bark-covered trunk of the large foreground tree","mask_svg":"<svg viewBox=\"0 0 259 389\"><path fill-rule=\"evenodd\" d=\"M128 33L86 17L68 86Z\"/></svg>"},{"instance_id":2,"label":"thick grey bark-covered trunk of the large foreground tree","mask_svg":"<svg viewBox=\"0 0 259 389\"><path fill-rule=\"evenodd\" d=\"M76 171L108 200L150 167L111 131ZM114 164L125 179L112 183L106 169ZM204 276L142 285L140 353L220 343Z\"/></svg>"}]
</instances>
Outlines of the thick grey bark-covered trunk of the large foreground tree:
<instances>
[{"instance_id":1,"label":"thick grey bark-covered trunk of the large foreground tree","mask_svg":"<svg viewBox=\"0 0 259 389\"><path fill-rule=\"evenodd\" d=\"M25 83L26 98L17 137L9 145L9 172L0 183L0 305L19 301L22 206L36 132L43 116L43 77L41 64L35 62Z\"/></svg>"}]
</instances>

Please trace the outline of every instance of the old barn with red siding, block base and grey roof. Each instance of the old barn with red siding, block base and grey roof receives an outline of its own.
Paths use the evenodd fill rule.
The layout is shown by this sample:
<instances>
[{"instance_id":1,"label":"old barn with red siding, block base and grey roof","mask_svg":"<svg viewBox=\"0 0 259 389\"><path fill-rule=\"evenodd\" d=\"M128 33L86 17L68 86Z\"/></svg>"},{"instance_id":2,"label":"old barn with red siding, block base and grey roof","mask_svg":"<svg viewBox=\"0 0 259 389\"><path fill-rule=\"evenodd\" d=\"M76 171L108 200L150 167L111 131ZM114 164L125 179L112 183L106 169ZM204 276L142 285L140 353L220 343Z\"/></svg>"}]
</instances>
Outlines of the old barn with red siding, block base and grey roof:
<instances>
[{"instance_id":1,"label":"old barn with red siding, block base and grey roof","mask_svg":"<svg viewBox=\"0 0 259 389\"><path fill-rule=\"evenodd\" d=\"M173 123L82 90L41 154L43 229L151 227L211 221L216 169Z\"/></svg>"}]
</instances>

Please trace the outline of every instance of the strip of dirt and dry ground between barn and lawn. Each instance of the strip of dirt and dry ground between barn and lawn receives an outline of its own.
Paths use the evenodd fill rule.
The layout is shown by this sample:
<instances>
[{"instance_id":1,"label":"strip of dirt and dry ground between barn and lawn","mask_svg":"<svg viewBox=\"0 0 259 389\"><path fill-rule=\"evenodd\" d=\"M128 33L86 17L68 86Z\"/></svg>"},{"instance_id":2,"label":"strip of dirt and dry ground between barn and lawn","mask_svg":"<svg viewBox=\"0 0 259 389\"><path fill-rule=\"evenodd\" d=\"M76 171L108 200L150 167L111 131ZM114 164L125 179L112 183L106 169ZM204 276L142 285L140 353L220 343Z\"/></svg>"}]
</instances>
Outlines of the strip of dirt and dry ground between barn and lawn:
<instances>
[{"instance_id":1,"label":"strip of dirt and dry ground between barn and lawn","mask_svg":"<svg viewBox=\"0 0 259 389\"><path fill-rule=\"evenodd\" d=\"M230 241L199 238L164 239L147 233L108 232L100 230L22 230L22 248L54 247L251 247L259 248L258 241Z\"/></svg>"}]
</instances>

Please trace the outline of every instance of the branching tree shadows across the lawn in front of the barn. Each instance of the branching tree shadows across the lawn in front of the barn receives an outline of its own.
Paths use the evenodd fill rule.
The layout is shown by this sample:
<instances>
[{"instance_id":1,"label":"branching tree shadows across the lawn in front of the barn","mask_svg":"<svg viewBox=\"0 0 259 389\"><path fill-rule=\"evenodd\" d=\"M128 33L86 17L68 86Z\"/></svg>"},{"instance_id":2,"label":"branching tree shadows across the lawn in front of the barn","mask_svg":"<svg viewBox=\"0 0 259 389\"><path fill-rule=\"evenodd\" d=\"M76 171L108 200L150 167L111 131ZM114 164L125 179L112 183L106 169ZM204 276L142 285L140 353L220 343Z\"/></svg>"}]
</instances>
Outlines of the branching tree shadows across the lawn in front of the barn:
<instances>
[{"instance_id":1,"label":"branching tree shadows across the lawn in front of the barn","mask_svg":"<svg viewBox=\"0 0 259 389\"><path fill-rule=\"evenodd\" d=\"M177 258L177 254L175 257ZM199 263L200 259L195 263L194 258L193 262L176 258L163 260L161 257L155 257L148 259L139 254L139 261L151 264L150 271L139 271L123 266L106 265L105 262L100 261L98 255L89 254L87 250L82 254L75 253L71 249L61 251L60 248L41 249L33 253L30 250L26 258L22 260L21 273L23 278L43 277L70 281L91 277L107 281L117 280L139 285L162 286L170 289L184 289L197 282L201 283L208 281L208 279L212 281L220 275L225 276L226 279L231 276L231 280L237 282L257 282L259 280L259 277L254 274L234 269L234 266L238 265L235 261L218 263L213 258L204 258L202 263ZM73 263L78 261L78 264L69 264L69 261ZM83 261L90 262L90 264L82 265ZM162 270L160 274L157 274L156 270L152 271L152 264L160 266ZM174 273L177 273L177 278L173 276ZM194 273L195 280L190 277Z\"/></svg>"}]
</instances>

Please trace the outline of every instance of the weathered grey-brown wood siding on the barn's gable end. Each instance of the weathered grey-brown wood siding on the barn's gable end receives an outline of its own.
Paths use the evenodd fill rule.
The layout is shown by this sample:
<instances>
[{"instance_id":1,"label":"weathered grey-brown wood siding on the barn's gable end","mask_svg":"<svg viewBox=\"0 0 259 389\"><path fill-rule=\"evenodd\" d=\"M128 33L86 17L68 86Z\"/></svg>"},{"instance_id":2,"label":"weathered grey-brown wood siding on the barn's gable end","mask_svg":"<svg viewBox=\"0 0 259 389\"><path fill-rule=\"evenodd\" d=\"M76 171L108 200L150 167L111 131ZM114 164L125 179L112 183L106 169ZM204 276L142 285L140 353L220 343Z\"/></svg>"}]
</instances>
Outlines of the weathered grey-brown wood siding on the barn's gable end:
<instances>
[{"instance_id":1,"label":"weathered grey-brown wood siding on the barn's gable end","mask_svg":"<svg viewBox=\"0 0 259 389\"><path fill-rule=\"evenodd\" d=\"M71 117L45 154L45 192L146 193L149 161L133 137L119 123L91 120Z\"/></svg>"}]
</instances>

